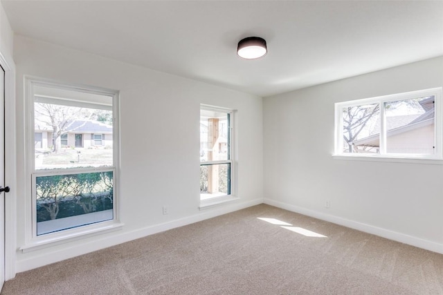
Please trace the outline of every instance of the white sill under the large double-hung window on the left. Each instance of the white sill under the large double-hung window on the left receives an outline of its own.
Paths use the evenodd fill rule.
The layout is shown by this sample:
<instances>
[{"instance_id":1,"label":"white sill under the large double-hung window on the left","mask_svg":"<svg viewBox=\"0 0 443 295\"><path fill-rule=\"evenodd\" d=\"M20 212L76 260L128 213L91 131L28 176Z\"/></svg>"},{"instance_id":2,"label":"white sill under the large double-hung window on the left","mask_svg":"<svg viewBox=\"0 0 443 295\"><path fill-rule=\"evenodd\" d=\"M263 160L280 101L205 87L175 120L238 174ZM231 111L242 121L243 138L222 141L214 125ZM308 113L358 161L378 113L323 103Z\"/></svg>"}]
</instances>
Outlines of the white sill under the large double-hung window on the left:
<instances>
[{"instance_id":1,"label":"white sill under the large double-hung window on the left","mask_svg":"<svg viewBox=\"0 0 443 295\"><path fill-rule=\"evenodd\" d=\"M63 235L57 235L62 233L58 232L52 236L48 234L48 237L42 237L42 239L38 237L38 240L36 239L30 241L27 245L19 247L19 250L21 250L23 253L28 253L39 249L64 244L66 242L71 242L73 240L80 240L80 238L84 238L87 236L96 236L98 234L105 234L111 231L117 231L122 229L124 225L123 223L115 221L103 223L105 224L101 223L100 225L92 225L91 227L86 226L87 229L85 227L82 227L81 230L77 228L73 231L63 233Z\"/></svg>"}]
</instances>

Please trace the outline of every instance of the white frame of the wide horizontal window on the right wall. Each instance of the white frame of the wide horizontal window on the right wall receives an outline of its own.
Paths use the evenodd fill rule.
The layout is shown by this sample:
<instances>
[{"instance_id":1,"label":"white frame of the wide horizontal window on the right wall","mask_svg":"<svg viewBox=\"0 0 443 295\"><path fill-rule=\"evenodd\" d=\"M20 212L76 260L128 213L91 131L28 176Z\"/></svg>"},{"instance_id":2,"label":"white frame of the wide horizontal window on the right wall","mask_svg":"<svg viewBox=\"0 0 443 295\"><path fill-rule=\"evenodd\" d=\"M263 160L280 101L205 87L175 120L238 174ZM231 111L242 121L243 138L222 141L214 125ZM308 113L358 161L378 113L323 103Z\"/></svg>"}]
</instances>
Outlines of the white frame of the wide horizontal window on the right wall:
<instances>
[{"instance_id":1,"label":"white frame of the wide horizontal window on the right wall","mask_svg":"<svg viewBox=\"0 0 443 295\"><path fill-rule=\"evenodd\" d=\"M386 152L386 113L385 103L395 102L399 100L415 99L419 97L434 96L434 144L435 149L433 154L419 154L419 153L387 153ZM343 108L352 106L361 106L368 104L379 104L380 108L380 153L345 153L343 151ZM392 95L383 95L378 97L370 97L365 99L355 99L347 102L337 102L334 104L334 158L342 158L346 160L394 160L394 162L417 162L417 160L424 160L426 162L443 160L443 135L442 135L442 116L443 116L443 102L442 102L442 87L428 88L419 91L410 91L406 93L397 93Z\"/></svg>"}]
</instances>

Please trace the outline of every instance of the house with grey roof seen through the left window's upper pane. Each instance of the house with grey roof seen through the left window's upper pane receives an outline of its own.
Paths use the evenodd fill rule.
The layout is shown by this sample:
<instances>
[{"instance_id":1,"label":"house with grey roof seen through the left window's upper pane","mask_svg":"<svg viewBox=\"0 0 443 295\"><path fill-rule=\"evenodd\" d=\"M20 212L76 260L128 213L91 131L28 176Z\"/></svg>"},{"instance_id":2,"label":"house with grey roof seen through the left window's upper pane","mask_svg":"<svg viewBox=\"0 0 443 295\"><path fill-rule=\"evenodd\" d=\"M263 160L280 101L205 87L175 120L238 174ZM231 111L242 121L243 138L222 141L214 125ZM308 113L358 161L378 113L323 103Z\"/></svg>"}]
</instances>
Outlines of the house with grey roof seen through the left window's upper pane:
<instances>
[{"instance_id":1,"label":"house with grey roof seen through the left window's upper pane","mask_svg":"<svg viewBox=\"0 0 443 295\"><path fill-rule=\"evenodd\" d=\"M51 126L35 126L35 148L48 149L53 146ZM61 137L62 147L89 148L92 146L112 146L112 126L99 121L75 120L69 123Z\"/></svg>"}]
</instances>

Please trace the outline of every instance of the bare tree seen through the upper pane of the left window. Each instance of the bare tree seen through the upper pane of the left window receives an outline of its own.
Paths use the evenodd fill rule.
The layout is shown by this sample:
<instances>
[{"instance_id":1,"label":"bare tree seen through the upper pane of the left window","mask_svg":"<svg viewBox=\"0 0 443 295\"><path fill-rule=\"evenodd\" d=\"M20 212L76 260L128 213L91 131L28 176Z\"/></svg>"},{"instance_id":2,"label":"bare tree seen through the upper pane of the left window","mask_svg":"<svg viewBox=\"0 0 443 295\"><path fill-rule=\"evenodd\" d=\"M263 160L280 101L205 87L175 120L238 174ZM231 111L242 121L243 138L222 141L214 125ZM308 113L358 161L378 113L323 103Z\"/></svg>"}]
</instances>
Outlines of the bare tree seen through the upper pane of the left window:
<instances>
[{"instance_id":1,"label":"bare tree seen through the upper pane of the left window","mask_svg":"<svg viewBox=\"0 0 443 295\"><path fill-rule=\"evenodd\" d=\"M35 103L35 121L51 126L53 129L53 153L58 153L62 147L62 134L73 131L69 127L75 120L90 120L92 113L89 109L58 104ZM77 126L76 129L80 128Z\"/></svg>"}]
</instances>

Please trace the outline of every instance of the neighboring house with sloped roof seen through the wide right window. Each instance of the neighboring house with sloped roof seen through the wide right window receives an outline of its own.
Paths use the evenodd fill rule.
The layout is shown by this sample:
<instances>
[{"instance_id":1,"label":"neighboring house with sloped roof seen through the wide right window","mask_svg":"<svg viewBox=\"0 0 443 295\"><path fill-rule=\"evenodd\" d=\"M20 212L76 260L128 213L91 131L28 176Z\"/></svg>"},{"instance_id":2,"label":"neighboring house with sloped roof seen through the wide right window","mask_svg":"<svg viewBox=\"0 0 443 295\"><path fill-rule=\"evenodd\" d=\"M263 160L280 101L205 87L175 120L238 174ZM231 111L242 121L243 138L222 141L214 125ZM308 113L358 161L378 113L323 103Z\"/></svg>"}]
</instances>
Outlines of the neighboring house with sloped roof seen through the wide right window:
<instances>
[{"instance_id":1,"label":"neighboring house with sloped roof seen through the wide right window","mask_svg":"<svg viewBox=\"0 0 443 295\"><path fill-rule=\"evenodd\" d=\"M434 97L418 102L419 113L386 116L387 153L433 154L434 143ZM377 153L380 146L379 120L372 128L372 135L354 140L357 151Z\"/></svg>"}]
</instances>

